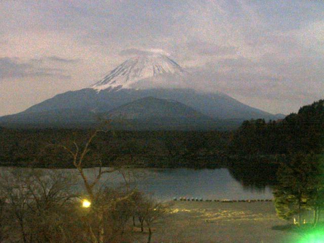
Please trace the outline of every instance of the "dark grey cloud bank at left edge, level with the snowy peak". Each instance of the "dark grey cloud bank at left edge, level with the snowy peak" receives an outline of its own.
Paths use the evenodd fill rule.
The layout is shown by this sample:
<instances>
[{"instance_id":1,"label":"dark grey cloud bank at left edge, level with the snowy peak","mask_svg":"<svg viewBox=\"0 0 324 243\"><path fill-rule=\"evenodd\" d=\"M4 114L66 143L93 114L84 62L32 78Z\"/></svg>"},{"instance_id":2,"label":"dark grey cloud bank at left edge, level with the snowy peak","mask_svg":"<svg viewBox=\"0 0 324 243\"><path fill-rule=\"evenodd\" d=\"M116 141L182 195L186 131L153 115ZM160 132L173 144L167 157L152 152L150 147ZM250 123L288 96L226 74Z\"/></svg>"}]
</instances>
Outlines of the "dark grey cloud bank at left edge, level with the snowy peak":
<instances>
[{"instance_id":1,"label":"dark grey cloud bank at left edge, level with the snowy peak","mask_svg":"<svg viewBox=\"0 0 324 243\"><path fill-rule=\"evenodd\" d=\"M70 78L60 68L48 68L37 65L41 63L43 63L42 59L30 59L27 62L23 62L19 58L2 57L0 58L0 80L4 78L39 76Z\"/></svg>"}]
</instances>

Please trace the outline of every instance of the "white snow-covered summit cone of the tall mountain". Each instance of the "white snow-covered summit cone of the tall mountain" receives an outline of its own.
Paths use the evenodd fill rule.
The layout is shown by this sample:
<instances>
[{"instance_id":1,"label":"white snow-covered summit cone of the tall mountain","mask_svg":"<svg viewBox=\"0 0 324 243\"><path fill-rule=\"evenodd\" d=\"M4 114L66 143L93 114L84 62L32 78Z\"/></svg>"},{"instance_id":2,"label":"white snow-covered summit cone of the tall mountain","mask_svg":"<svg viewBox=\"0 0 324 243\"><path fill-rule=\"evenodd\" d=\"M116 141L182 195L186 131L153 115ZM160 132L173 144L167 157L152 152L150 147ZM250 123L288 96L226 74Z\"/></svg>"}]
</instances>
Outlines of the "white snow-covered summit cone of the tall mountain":
<instances>
[{"instance_id":1,"label":"white snow-covered summit cone of the tall mountain","mask_svg":"<svg viewBox=\"0 0 324 243\"><path fill-rule=\"evenodd\" d=\"M95 90L135 88L139 80L163 74L183 75L184 69L169 57L157 53L132 57L91 86Z\"/></svg>"}]
</instances>

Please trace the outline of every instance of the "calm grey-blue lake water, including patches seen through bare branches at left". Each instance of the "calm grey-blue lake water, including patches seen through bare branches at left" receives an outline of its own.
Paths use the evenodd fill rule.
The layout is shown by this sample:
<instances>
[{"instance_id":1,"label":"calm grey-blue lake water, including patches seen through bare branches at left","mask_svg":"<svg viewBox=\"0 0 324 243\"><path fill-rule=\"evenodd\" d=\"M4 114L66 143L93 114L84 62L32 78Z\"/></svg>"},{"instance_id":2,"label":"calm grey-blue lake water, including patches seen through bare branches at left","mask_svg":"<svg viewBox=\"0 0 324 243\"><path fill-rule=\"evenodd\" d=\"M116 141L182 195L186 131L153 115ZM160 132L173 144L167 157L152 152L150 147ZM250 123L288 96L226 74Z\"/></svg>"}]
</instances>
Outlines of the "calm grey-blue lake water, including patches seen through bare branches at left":
<instances>
[{"instance_id":1,"label":"calm grey-blue lake water, including patches seen through bare branches at left","mask_svg":"<svg viewBox=\"0 0 324 243\"><path fill-rule=\"evenodd\" d=\"M5 168L1 168L5 169ZM45 169L44 169L45 170ZM64 169L67 172L76 172ZM95 177L97 169L86 169L89 177ZM124 176L131 186L153 195L160 200L173 197L202 197L204 199L268 199L272 198L268 186L262 189L248 188L235 180L227 169L133 169ZM104 174L103 185L124 186L125 180L119 172ZM82 183L80 181L80 186Z\"/></svg>"}]
</instances>

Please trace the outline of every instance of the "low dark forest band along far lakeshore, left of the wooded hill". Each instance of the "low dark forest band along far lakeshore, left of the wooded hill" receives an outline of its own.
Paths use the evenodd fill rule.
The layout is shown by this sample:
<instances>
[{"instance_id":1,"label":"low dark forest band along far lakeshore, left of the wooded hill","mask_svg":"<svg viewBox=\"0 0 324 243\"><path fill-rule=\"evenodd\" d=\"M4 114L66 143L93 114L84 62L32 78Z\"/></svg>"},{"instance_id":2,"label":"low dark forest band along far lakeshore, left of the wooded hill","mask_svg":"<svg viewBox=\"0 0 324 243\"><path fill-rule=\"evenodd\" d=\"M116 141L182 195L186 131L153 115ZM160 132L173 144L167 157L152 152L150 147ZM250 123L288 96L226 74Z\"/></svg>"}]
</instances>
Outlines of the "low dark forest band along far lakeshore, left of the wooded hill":
<instances>
[{"instance_id":1,"label":"low dark forest band along far lakeshore, left of the wooded hill","mask_svg":"<svg viewBox=\"0 0 324 243\"><path fill-rule=\"evenodd\" d=\"M0 163L37 167L68 167L66 151L49 144L86 140L92 130L0 130ZM221 161L229 133L209 131L110 131L90 145L85 165L98 157L104 166L132 161L138 167L208 167ZM124 162L123 162L124 161ZM214 163L215 164L215 163Z\"/></svg>"}]
</instances>

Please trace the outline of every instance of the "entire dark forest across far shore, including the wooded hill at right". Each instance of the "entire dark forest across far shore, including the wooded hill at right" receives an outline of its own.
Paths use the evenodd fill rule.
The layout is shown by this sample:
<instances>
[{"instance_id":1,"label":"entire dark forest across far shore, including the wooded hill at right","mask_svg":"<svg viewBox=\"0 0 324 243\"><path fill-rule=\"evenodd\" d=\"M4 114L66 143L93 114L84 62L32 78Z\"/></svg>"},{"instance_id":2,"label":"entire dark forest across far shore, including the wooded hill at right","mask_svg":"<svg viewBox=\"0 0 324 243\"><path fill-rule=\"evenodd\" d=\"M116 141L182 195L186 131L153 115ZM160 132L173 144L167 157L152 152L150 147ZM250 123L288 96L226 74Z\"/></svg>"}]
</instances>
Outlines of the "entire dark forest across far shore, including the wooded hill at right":
<instances>
[{"instance_id":1,"label":"entire dark forest across far shore, including the wooded hill at right","mask_svg":"<svg viewBox=\"0 0 324 243\"><path fill-rule=\"evenodd\" d=\"M271 172L267 183L274 184L280 163L288 163L296 153L323 151L323 103L319 100L303 106L282 120L247 120L234 131L114 131L103 127L90 144L84 166L96 167L100 160L102 166L227 167L234 177L252 184L263 177L251 182L249 175L256 168L265 168L264 174ZM60 146L83 145L94 131L1 128L0 163L70 167L71 158Z\"/></svg>"}]
</instances>

